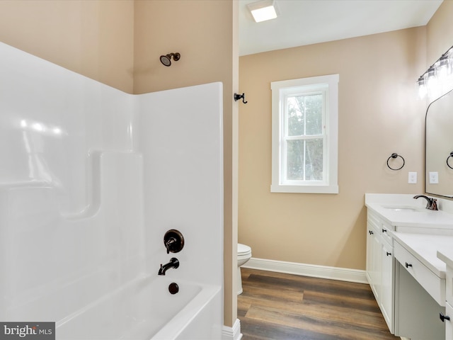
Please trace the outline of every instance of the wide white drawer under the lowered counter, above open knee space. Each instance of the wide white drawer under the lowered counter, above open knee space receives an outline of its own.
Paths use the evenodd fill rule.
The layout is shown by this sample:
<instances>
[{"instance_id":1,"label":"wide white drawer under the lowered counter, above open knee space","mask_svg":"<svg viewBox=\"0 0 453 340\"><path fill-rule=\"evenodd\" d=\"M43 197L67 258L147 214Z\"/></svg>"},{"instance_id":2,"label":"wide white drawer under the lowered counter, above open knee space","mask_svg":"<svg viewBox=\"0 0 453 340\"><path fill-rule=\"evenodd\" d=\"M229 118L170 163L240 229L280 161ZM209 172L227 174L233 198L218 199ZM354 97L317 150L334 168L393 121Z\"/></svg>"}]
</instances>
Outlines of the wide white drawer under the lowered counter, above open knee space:
<instances>
[{"instance_id":1,"label":"wide white drawer under the lowered counter, above open knee space","mask_svg":"<svg viewBox=\"0 0 453 340\"><path fill-rule=\"evenodd\" d=\"M445 306L445 279L432 273L401 244L394 244L395 258L441 306Z\"/></svg>"}]
</instances>

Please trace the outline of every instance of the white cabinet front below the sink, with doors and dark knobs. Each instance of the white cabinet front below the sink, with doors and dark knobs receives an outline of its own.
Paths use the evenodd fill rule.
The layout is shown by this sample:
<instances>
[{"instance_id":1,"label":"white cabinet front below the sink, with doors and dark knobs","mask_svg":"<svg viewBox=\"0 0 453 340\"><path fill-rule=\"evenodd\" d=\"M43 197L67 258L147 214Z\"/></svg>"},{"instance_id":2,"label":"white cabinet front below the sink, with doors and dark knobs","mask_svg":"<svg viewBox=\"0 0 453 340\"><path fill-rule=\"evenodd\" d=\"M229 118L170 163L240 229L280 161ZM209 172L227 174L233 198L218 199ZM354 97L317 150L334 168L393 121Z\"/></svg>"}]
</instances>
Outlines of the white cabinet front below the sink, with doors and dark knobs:
<instances>
[{"instance_id":1,"label":"white cabinet front below the sink, with doors and dark knobs","mask_svg":"<svg viewBox=\"0 0 453 340\"><path fill-rule=\"evenodd\" d=\"M391 334L394 334L393 230L379 215L367 212L367 279Z\"/></svg>"}]
</instances>

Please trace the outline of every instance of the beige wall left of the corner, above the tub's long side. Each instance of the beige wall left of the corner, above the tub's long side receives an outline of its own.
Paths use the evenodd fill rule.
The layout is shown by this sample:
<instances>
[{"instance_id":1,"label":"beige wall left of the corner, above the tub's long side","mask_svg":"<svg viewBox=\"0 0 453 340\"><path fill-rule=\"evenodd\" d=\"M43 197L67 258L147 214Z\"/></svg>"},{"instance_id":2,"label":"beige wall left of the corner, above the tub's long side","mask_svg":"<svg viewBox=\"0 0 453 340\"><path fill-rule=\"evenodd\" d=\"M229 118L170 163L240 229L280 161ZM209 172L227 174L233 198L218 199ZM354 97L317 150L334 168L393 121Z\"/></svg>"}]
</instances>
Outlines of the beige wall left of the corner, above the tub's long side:
<instances>
[{"instance_id":1,"label":"beige wall left of the corner, above the tub's long side","mask_svg":"<svg viewBox=\"0 0 453 340\"><path fill-rule=\"evenodd\" d=\"M132 93L134 1L0 1L0 41Z\"/></svg>"}]
</instances>

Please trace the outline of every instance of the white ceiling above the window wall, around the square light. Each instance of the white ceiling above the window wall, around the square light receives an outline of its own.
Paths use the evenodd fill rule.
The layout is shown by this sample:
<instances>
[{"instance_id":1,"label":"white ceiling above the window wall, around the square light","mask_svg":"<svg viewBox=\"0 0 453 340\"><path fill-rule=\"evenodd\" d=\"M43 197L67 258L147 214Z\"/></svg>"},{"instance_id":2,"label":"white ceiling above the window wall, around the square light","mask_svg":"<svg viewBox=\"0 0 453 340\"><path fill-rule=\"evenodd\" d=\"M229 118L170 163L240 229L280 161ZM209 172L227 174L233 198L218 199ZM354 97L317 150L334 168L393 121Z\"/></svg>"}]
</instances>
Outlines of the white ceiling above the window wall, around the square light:
<instances>
[{"instance_id":1,"label":"white ceiling above the window wall, around the square light","mask_svg":"<svg viewBox=\"0 0 453 340\"><path fill-rule=\"evenodd\" d=\"M442 0L275 0L280 15L255 23L239 0L239 55L424 26Z\"/></svg>"}]
</instances>

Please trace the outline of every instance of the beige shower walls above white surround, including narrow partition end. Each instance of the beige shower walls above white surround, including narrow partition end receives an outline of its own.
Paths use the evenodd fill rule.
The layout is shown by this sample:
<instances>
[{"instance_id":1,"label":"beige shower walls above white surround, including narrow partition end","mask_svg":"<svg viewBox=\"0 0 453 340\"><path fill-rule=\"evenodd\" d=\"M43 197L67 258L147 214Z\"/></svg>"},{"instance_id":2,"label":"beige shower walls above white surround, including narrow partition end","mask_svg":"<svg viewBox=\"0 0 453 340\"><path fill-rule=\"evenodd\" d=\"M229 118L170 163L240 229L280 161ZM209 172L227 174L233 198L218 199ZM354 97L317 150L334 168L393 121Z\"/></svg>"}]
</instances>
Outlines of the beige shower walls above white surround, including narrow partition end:
<instances>
[{"instance_id":1,"label":"beige shower walls above white surround, including narrow partition end","mask_svg":"<svg viewBox=\"0 0 453 340\"><path fill-rule=\"evenodd\" d=\"M0 1L0 41L122 91L224 86L224 323L236 320L237 2ZM159 56L180 52L164 67ZM235 136L235 137L233 137Z\"/></svg>"}]
</instances>

